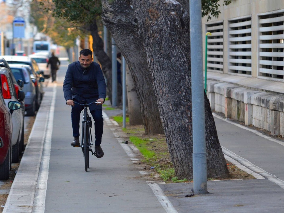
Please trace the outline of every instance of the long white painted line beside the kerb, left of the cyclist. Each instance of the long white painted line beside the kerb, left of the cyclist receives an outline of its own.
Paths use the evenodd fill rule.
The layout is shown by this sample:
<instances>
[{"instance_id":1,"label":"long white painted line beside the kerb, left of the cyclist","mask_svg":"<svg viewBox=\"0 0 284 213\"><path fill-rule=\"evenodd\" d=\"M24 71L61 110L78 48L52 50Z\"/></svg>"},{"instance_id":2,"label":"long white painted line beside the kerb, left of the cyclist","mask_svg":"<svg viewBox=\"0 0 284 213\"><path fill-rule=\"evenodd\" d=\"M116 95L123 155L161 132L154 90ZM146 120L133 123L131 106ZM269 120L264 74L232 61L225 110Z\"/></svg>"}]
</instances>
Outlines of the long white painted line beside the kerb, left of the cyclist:
<instances>
[{"instance_id":1,"label":"long white painted line beside the kerb, left of the cyclist","mask_svg":"<svg viewBox=\"0 0 284 213\"><path fill-rule=\"evenodd\" d=\"M41 165L39 169L39 176L37 180L37 188L35 193L34 205L32 212L44 212L45 210L45 196L47 189L47 179L49 173L49 159L50 159L50 150L51 150L51 137L53 129L53 117L55 109L55 98L56 98L56 86L53 84L53 94L52 101L49 110L49 117L47 120L47 129L45 133L44 145L43 145L43 154L41 158Z\"/></svg>"}]
</instances>

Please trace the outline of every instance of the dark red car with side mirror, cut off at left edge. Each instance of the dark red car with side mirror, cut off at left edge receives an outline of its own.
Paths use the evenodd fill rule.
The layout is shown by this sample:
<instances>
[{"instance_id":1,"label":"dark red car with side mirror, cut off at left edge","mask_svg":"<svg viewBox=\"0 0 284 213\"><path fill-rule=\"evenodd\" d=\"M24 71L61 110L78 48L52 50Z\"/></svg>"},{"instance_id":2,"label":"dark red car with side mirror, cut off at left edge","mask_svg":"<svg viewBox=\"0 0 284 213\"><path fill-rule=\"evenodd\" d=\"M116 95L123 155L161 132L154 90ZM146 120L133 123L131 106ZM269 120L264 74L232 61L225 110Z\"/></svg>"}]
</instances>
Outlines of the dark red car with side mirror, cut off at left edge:
<instances>
[{"instance_id":1,"label":"dark red car with side mirror, cut off at left edge","mask_svg":"<svg viewBox=\"0 0 284 213\"><path fill-rule=\"evenodd\" d=\"M0 91L1 91L0 78ZM9 108L8 108L9 107ZM21 104L17 101L10 101L8 107L2 93L0 92L0 180L9 179L12 156L12 116L11 112L21 108Z\"/></svg>"}]
</instances>

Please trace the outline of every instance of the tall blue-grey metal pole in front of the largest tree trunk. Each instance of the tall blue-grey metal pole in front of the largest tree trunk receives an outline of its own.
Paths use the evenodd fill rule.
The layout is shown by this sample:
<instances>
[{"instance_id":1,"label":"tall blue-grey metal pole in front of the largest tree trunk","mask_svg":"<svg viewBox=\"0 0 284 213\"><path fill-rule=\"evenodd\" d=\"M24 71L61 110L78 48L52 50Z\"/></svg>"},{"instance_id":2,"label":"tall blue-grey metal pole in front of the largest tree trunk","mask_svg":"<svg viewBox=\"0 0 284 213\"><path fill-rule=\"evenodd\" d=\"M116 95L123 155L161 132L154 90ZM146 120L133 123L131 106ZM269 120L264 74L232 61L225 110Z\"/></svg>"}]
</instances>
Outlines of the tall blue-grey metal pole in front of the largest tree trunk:
<instances>
[{"instance_id":1,"label":"tall blue-grey metal pole in front of the largest tree trunk","mask_svg":"<svg viewBox=\"0 0 284 213\"><path fill-rule=\"evenodd\" d=\"M191 96L193 128L193 190L207 193L201 0L190 0ZM194 53L194 54L193 54Z\"/></svg>"}]
</instances>

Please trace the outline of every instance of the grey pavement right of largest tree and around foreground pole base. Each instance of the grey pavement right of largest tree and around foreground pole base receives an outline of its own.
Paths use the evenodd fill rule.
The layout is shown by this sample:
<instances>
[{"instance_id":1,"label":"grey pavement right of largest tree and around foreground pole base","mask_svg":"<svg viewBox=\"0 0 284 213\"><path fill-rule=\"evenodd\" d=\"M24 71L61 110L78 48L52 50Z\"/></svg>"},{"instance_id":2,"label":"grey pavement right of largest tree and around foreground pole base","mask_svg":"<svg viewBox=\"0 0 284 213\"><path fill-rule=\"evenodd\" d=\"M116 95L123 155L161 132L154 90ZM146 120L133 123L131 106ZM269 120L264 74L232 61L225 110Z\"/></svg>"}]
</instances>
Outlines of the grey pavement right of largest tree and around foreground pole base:
<instances>
[{"instance_id":1,"label":"grey pavement right of largest tree and around foreground pole base","mask_svg":"<svg viewBox=\"0 0 284 213\"><path fill-rule=\"evenodd\" d=\"M208 194L193 197L185 197L193 183L158 184L173 207L178 212L283 212L284 142L213 114L225 158L258 179L208 181Z\"/></svg>"}]
</instances>

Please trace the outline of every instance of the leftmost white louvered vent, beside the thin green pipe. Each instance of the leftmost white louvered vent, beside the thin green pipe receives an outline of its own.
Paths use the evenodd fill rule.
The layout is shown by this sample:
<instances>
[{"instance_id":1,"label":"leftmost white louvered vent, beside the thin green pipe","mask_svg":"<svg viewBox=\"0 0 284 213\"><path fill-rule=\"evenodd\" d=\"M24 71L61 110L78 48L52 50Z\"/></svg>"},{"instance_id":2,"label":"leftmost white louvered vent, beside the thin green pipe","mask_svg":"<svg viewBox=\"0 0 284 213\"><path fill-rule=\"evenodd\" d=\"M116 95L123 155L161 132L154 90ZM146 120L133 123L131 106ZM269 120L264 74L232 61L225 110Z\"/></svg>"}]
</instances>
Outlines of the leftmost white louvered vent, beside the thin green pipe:
<instances>
[{"instance_id":1,"label":"leftmost white louvered vent, beside the thin green pipe","mask_svg":"<svg viewBox=\"0 0 284 213\"><path fill-rule=\"evenodd\" d=\"M223 21L206 24L207 37L207 70L223 73Z\"/></svg>"}]
</instances>

